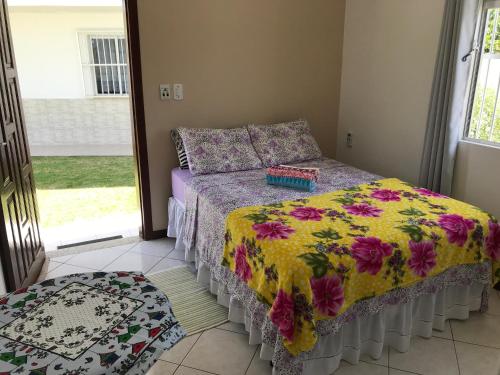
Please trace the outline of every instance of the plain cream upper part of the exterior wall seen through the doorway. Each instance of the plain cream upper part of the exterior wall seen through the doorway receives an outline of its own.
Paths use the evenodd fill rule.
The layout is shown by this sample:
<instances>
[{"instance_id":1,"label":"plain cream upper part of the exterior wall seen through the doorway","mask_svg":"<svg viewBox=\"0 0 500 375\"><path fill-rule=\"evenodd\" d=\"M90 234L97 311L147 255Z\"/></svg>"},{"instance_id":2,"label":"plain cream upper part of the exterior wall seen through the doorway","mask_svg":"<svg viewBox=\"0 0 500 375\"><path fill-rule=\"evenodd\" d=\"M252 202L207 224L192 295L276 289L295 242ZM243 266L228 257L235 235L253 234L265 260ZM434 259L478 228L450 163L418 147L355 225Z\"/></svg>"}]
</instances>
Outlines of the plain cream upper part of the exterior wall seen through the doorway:
<instances>
[{"instance_id":1,"label":"plain cream upper part of the exterior wall seen through the doorway","mask_svg":"<svg viewBox=\"0 0 500 375\"><path fill-rule=\"evenodd\" d=\"M83 98L77 32L123 30L121 7L9 7L21 85L30 99Z\"/></svg>"}]
</instances>

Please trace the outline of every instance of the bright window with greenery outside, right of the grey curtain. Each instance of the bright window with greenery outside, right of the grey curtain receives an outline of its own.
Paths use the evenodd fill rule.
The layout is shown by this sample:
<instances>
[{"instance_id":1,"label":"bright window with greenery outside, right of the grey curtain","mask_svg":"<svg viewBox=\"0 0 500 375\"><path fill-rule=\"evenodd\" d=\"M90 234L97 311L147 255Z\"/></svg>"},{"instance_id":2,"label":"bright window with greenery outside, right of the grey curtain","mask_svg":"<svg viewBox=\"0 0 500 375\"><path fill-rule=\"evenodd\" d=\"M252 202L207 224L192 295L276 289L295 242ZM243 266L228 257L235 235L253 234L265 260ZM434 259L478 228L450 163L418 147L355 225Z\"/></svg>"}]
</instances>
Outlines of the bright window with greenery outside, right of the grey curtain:
<instances>
[{"instance_id":1,"label":"bright window with greenery outside, right of the grey curtain","mask_svg":"<svg viewBox=\"0 0 500 375\"><path fill-rule=\"evenodd\" d=\"M465 137L500 144L500 2L485 3L479 24L480 53L473 68Z\"/></svg>"}]
</instances>

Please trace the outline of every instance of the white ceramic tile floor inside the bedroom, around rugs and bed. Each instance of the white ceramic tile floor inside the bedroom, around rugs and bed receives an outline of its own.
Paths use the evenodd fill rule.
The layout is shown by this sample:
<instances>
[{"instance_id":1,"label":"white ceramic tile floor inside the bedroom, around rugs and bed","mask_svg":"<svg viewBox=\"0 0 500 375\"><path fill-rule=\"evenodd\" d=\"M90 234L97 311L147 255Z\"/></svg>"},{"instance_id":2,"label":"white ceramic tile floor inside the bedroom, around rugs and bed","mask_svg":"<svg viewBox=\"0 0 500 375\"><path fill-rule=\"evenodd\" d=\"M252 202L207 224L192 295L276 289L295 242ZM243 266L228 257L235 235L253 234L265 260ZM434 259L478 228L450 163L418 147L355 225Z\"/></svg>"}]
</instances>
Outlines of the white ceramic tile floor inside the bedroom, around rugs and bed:
<instances>
[{"instance_id":1,"label":"white ceramic tile floor inside the bedroom, around rugs and bed","mask_svg":"<svg viewBox=\"0 0 500 375\"><path fill-rule=\"evenodd\" d=\"M44 265L41 279L89 270L158 272L183 264L173 247L171 239L162 239L55 258ZM493 291L488 313L451 321L434 336L414 338L407 353L388 349L378 360L342 362L335 375L500 375L500 292ZM248 344L241 325L226 323L186 337L148 372L168 374L265 375L271 367L259 359L259 347Z\"/></svg>"}]
</instances>

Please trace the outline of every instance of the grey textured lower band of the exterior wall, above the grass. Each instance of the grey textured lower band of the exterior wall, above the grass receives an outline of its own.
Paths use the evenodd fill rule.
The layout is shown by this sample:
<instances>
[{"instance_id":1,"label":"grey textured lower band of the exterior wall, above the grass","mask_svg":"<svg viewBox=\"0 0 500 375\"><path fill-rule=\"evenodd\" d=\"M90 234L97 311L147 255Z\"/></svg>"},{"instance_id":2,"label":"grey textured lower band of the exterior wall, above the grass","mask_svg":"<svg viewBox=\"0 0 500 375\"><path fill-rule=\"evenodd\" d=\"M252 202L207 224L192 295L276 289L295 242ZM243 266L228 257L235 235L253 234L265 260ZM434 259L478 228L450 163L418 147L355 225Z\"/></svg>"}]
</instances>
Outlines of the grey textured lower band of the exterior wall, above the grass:
<instances>
[{"instance_id":1,"label":"grey textured lower band of the exterior wall, above the grass","mask_svg":"<svg viewBox=\"0 0 500 375\"><path fill-rule=\"evenodd\" d=\"M23 99L34 156L132 155L128 98Z\"/></svg>"}]
</instances>

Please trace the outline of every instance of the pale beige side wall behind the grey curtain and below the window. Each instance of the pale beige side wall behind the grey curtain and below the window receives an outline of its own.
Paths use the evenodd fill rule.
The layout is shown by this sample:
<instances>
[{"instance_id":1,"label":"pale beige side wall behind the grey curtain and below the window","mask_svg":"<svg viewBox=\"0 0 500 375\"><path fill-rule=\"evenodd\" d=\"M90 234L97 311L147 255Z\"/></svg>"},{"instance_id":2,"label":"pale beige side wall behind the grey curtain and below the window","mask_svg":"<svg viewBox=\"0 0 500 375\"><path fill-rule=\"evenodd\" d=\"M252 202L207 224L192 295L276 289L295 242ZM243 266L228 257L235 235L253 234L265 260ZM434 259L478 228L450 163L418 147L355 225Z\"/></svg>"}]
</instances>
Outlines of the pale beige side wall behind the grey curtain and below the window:
<instances>
[{"instance_id":1,"label":"pale beige side wall behind the grey curtain and below the window","mask_svg":"<svg viewBox=\"0 0 500 375\"><path fill-rule=\"evenodd\" d=\"M339 160L418 181L443 7L444 0L347 1ZM499 148L461 142L453 196L500 217L499 165Z\"/></svg>"}]
</instances>

